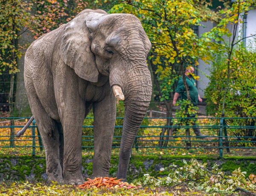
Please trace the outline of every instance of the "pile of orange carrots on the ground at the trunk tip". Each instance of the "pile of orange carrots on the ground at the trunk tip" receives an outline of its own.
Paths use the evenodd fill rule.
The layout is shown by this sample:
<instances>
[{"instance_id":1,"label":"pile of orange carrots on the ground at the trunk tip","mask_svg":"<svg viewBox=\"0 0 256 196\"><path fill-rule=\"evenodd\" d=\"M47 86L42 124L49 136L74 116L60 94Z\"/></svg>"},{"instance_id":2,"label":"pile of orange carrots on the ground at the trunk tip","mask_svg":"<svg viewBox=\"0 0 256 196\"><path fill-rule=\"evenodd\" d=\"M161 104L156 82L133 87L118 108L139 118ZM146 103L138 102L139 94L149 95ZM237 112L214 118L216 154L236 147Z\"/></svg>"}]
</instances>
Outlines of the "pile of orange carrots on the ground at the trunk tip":
<instances>
[{"instance_id":1,"label":"pile of orange carrots on the ground at the trunk tip","mask_svg":"<svg viewBox=\"0 0 256 196\"><path fill-rule=\"evenodd\" d=\"M84 182L84 184L78 185L79 188L85 189L90 187L115 187L116 185L119 186L121 184L122 179L116 180L116 178L109 178L109 177L99 177L95 179L89 179L88 181Z\"/></svg>"}]
</instances>

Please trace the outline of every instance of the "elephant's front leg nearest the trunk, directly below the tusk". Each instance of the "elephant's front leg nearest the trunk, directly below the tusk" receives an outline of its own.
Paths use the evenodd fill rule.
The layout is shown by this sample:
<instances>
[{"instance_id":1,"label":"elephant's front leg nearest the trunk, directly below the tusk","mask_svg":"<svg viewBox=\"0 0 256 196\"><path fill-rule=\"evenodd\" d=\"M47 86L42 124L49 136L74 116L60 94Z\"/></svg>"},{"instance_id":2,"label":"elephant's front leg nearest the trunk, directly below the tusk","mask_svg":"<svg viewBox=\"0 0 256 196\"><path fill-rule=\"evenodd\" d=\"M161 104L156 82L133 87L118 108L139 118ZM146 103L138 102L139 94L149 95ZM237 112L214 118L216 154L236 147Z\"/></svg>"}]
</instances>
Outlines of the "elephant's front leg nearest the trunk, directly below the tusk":
<instances>
[{"instance_id":1,"label":"elephant's front leg nearest the trunk, directly below the tusk","mask_svg":"<svg viewBox=\"0 0 256 196\"><path fill-rule=\"evenodd\" d=\"M100 102L93 104L94 113L94 177L109 175L111 147L116 120L116 98L110 89L109 94Z\"/></svg>"}]
</instances>

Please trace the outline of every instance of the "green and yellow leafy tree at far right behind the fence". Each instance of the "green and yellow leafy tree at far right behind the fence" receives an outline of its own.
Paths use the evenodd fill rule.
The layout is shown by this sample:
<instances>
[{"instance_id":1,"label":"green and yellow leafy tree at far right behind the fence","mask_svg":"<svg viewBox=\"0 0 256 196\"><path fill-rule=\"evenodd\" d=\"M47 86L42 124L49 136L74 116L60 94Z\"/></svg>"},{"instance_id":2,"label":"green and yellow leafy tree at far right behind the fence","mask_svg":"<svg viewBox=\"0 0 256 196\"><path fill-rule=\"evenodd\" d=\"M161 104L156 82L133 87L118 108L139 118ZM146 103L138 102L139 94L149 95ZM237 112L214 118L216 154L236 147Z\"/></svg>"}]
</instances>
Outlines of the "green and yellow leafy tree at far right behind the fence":
<instances>
[{"instance_id":1,"label":"green and yellow leafy tree at far right behind the fence","mask_svg":"<svg viewBox=\"0 0 256 196\"><path fill-rule=\"evenodd\" d=\"M223 18L207 36L221 41L218 54L213 54L210 82L205 96L207 112L221 117L255 117L256 116L256 49L241 42L247 37L238 36L238 26L242 24L244 14L256 5L253 0L238 0L219 11ZM231 25L229 28L228 25ZM226 36L227 39L223 37ZM256 35L250 35L255 37ZM217 62L217 63L216 63ZM230 119L230 124L255 126L256 119ZM237 136L255 137L254 129L242 129Z\"/></svg>"}]
</instances>

